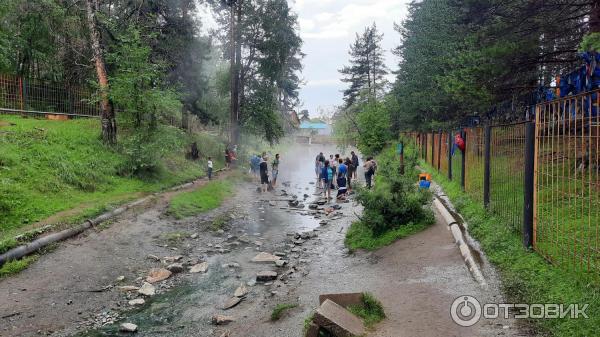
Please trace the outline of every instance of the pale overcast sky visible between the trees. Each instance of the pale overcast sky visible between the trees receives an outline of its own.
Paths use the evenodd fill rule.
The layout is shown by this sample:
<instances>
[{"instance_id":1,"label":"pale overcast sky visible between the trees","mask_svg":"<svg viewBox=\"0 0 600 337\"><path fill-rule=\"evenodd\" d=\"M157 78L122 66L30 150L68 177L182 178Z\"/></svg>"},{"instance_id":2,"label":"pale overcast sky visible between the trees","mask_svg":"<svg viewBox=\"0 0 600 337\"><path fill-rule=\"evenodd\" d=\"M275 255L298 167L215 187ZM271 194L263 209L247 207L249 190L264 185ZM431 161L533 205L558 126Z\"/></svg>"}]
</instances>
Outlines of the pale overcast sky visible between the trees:
<instances>
[{"instance_id":1,"label":"pale overcast sky visible between the trees","mask_svg":"<svg viewBox=\"0 0 600 337\"><path fill-rule=\"evenodd\" d=\"M331 112L342 104L341 69L348 62L348 49L356 33L373 22L383 37L386 63L395 70L397 58L391 50L400 43L394 22L401 23L407 15L410 0L288 0L298 14L300 34L304 40L305 84L300 91L303 106L311 116L321 111ZM215 27L208 11L203 11L204 29ZM390 80L393 76L390 75Z\"/></svg>"}]
</instances>

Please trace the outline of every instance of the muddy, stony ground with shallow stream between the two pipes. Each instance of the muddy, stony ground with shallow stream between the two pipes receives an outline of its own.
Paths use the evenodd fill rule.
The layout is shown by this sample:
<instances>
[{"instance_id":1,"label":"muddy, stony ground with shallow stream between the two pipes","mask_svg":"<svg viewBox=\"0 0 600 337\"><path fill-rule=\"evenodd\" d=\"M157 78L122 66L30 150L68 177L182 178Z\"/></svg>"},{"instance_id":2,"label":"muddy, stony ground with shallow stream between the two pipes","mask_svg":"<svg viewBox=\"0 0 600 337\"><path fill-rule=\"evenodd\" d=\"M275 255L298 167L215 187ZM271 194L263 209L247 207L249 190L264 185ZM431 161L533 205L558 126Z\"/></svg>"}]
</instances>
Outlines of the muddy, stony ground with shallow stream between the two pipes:
<instances>
[{"instance_id":1,"label":"muddy, stony ground with shallow stream between the two pipes","mask_svg":"<svg viewBox=\"0 0 600 337\"><path fill-rule=\"evenodd\" d=\"M502 294L485 257L490 289L481 289L471 278L441 220L377 252L349 254L343 239L360 212L358 205L339 204L341 209L331 216L290 209L289 195L305 205L319 198L313 165L318 151L336 152L299 145L282 154L280 185L274 192L260 194L255 183L240 182L222 207L184 220L165 215L168 196L158 198L110 226L60 244L29 269L0 281L0 336L121 336L122 322L137 324L140 336L301 336L318 295L346 291L369 291L382 301L388 318L369 336L528 335L510 320L470 328L451 321L456 297L500 302ZM211 228L215 218L228 219L223 231ZM298 240L295 233L312 234ZM289 263L251 262L261 251L284 253ZM185 265L207 261L209 268L204 274L186 270L156 283L158 294L132 308L128 301L143 296L118 286L140 286L151 268L168 264L149 255L179 255ZM279 279L255 283L263 270L276 271ZM120 276L125 279L117 281ZM223 310L240 284L248 295ZM279 303L298 307L271 322ZM215 326L215 314L235 321Z\"/></svg>"}]
</instances>

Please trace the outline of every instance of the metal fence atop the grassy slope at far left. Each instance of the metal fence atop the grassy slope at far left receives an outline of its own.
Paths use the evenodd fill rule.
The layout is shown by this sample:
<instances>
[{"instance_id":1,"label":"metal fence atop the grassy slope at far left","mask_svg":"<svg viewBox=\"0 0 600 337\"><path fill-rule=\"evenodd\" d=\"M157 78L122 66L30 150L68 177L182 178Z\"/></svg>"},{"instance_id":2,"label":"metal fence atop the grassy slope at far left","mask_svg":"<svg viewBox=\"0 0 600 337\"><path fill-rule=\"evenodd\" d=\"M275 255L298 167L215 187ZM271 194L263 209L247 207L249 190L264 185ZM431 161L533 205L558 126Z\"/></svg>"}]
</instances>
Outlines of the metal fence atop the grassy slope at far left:
<instances>
[{"instance_id":1,"label":"metal fence atop the grassy slope at far left","mask_svg":"<svg viewBox=\"0 0 600 337\"><path fill-rule=\"evenodd\" d=\"M70 85L0 74L0 111L5 113L100 116L93 91Z\"/></svg>"}]
</instances>

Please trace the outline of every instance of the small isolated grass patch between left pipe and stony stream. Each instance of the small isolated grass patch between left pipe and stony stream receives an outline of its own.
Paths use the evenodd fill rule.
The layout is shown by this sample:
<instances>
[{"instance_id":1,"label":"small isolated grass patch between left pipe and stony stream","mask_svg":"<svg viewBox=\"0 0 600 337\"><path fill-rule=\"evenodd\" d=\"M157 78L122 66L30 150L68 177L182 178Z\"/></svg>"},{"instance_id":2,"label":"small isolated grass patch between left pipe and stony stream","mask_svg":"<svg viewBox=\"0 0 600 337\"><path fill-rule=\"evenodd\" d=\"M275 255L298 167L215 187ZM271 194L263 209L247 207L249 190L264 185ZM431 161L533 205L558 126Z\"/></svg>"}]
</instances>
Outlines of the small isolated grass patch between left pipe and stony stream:
<instances>
[{"instance_id":1,"label":"small isolated grass patch between left pipe and stony stream","mask_svg":"<svg viewBox=\"0 0 600 337\"><path fill-rule=\"evenodd\" d=\"M176 219L194 216L221 205L233 193L233 183L229 180L215 180L191 192L184 192L171 199L168 214Z\"/></svg>"}]
</instances>

